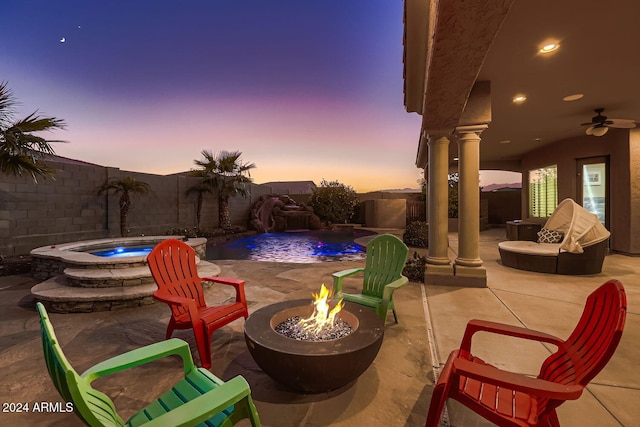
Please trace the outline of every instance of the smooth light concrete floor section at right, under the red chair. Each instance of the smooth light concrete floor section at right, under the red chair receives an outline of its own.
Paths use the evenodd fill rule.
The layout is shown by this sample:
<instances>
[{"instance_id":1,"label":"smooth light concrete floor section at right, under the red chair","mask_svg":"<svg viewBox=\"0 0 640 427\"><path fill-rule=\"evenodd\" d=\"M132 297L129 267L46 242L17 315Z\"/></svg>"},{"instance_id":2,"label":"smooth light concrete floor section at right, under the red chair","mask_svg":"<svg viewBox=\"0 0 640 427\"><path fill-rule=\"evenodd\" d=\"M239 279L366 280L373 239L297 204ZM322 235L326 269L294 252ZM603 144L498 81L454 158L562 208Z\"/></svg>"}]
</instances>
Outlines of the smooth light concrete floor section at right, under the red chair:
<instances>
[{"instance_id":1,"label":"smooth light concrete floor section at right, under the red chair","mask_svg":"<svg viewBox=\"0 0 640 427\"><path fill-rule=\"evenodd\" d=\"M444 364L451 349L459 346L465 325L473 318L520 325L565 339L578 322L587 296L607 280L618 279L627 294L627 318L620 344L582 396L558 408L558 417L563 427L639 425L640 258L608 255L602 272L589 276L534 273L500 264L498 242L505 239L501 229L480 235L487 288L426 286L436 365ZM457 235L450 234L449 240L453 259ZM531 375L538 373L542 361L554 350L553 346L489 334L478 334L472 345L474 354L494 366ZM457 402L449 401L448 406L451 425L493 425Z\"/></svg>"}]
</instances>

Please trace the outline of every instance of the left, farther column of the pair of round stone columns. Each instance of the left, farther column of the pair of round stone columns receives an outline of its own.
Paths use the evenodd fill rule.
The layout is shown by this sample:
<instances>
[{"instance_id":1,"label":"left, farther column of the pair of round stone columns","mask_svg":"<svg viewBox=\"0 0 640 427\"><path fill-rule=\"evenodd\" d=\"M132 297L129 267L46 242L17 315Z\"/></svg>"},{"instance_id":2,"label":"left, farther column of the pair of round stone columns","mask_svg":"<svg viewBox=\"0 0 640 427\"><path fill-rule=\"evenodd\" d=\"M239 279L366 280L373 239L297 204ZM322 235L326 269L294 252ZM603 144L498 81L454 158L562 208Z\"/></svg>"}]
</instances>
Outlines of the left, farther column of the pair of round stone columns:
<instances>
[{"instance_id":1,"label":"left, farther column of the pair of round stone columns","mask_svg":"<svg viewBox=\"0 0 640 427\"><path fill-rule=\"evenodd\" d=\"M449 260L449 139L429 136L428 216L429 255L427 275L453 275Z\"/></svg>"}]
</instances>

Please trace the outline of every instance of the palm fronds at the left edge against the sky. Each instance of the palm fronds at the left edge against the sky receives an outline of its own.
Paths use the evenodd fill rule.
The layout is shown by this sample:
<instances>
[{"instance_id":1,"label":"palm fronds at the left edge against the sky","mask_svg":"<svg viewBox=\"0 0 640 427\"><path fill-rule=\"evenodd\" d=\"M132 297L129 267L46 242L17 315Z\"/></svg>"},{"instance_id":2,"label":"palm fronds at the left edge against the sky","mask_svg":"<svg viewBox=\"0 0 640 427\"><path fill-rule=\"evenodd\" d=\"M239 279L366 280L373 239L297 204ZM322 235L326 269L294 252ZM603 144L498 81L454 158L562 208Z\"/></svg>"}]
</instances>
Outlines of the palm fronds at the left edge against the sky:
<instances>
[{"instance_id":1,"label":"palm fronds at the left edge against the sky","mask_svg":"<svg viewBox=\"0 0 640 427\"><path fill-rule=\"evenodd\" d=\"M7 87L6 82L0 82L0 173L18 176L29 173L37 182L37 177L53 175L43 160L54 155L52 142L36 136L34 132L63 129L65 122L55 117L42 117L37 111L24 119L15 119L17 101Z\"/></svg>"}]
</instances>

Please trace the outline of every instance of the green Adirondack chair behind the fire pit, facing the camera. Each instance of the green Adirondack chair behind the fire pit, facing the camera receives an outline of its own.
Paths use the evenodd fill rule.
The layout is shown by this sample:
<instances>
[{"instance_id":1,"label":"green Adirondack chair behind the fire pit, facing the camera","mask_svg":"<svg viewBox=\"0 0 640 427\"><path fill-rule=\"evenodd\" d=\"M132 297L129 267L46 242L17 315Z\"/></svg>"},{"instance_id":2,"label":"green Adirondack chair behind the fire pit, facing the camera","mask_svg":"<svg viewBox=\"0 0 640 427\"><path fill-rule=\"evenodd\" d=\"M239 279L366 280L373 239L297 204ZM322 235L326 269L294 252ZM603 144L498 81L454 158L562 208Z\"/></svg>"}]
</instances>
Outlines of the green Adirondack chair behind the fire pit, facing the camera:
<instances>
[{"instance_id":1,"label":"green Adirondack chair behind the fire pit, facing the camera","mask_svg":"<svg viewBox=\"0 0 640 427\"><path fill-rule=\"evenodd\" d=\"M392 310L395 322L398 323L393 292L409 283L409 279L402 275L408 253L409 248L394 235L381 234L374 237L367 244L364 268L351 268L333 273L334 297L373 309L383 324L386 324L387 312ZM364 272L361 293L343 293L343 279L361 272Z\"/></svg>"}]
</instances>

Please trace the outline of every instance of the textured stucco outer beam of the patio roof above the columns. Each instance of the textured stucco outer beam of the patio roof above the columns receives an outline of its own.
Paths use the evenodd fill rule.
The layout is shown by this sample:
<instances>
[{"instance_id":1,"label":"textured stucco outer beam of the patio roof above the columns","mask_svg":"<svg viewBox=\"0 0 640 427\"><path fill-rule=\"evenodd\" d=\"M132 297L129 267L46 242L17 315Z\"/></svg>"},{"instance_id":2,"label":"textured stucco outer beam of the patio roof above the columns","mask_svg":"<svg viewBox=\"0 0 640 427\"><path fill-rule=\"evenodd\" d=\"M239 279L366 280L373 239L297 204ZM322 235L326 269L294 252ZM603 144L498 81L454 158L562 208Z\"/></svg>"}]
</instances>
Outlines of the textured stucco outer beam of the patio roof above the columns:
<instances>
[{"instance_id":1,"label":"textured stucco outer beam of the patio roof above the columns","mask_svg":"<svg viewBox=\"0 0 640 427\"><path fill-rule=\"evenodd\" d=\"M476 80L512 3L405 0L405 107L422 115L418 167L428 163L428 135L491 121L490 83Z\"/></svg>"}]
</instances>

